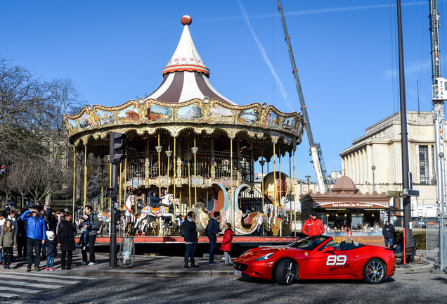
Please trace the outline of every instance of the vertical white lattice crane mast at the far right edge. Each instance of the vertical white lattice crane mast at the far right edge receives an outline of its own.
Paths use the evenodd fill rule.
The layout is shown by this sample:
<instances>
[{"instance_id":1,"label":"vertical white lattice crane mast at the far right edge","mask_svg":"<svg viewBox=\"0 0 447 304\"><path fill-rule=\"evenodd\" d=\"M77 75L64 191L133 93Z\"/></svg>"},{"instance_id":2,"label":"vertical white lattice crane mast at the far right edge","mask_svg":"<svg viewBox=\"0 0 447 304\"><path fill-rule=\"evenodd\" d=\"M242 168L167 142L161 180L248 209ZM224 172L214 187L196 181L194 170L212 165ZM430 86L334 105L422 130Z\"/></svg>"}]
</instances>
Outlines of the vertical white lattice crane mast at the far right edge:
<instances>
[{"instance_id":1,"label":"vertical white lattice crane mast at the far right edge","mask_svg":"<svg viewBox=\"0 0 447 304\"><path fill-rule=\"evenodd\" d=\"M446 80L441 77L441 63L439 61L439 13L438 4L436 0L429 0L430 4L430 33L432 40L432 110L434 122L434 144L436 146L436 189L438 200L436 202L441 215L440 237L439 237L439 262L441 270L446 266L443 255L443 248L445 246L443 240L443 219L446 216L446 164L444 154L444 101L447 100Z\"/></svg>"}]
</instances>

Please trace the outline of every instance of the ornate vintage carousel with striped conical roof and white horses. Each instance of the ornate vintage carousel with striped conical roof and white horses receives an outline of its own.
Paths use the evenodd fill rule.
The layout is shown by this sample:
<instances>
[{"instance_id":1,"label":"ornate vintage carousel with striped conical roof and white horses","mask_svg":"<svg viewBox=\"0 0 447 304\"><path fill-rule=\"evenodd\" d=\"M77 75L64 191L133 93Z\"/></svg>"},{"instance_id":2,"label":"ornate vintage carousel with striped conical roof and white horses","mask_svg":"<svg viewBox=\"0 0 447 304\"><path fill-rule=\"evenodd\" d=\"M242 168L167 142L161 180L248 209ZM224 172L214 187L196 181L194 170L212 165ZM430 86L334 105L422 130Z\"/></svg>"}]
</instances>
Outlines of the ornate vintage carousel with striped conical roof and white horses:
<instances>
[{"instance_id":1,"label":"ornate vintage carousel with striped conical roof and white horses","mask_svg":"<svg viewBox=\"0 0 447 304\"><path fill-rule=\"evenodd\" d=\"M118 177L123 234L179 235L193 210L199 232L219 211L222 227L230 222L235 234L281 235L292 180L280 171L280 158L288 154L294 160L306 127L303 115L266 103L238 105L214 89L190 35L191 21L181 18L179 44L162 70L162 83L148 97L65 115L74 157L83 153L86 165L93 153L106 162L110 132L127 134L127 158ZM263 172L266 163L273 167L260 187L254 186L256 163ZM101 194L87 202L87 182L84 175L83 204L92 204L107 223L110 202ZM150 206L150 191L163 197L162 205Z\"/></svg>"}]
</instances>

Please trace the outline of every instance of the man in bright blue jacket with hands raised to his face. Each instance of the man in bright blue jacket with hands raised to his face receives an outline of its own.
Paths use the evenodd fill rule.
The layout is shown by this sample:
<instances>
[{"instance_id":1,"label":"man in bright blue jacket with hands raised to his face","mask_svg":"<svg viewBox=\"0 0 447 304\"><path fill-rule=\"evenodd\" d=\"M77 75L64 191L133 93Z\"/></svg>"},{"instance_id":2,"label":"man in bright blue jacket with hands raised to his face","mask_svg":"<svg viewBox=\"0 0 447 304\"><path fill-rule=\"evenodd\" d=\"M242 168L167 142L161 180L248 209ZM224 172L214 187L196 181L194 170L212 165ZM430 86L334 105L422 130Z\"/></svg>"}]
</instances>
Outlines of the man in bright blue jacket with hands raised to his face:
<instances>
[{"instance_id":1,"label":"man in bright blue jacket with hands raised to his face","mask_svg":"<svg viewBox=\"0 0 447 304\"><path fill-rule=\"evenodd\" d=\"M20 219L27 222L27 272L31 271L32 249L34 248L34 269L39 271L40 248L46 241L45 220L36 209L26 210L20 215Z\"/></svg>"}]
</instances>

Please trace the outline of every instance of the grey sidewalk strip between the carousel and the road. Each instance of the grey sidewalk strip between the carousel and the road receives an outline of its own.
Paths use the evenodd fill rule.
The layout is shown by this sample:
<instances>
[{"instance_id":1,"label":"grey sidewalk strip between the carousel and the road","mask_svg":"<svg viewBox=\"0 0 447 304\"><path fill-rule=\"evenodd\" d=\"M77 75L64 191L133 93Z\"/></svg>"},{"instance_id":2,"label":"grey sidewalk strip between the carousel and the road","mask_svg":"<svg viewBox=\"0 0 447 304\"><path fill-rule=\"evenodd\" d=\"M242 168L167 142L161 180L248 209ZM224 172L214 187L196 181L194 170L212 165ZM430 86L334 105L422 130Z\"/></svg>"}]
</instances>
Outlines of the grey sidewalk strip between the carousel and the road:
<instances>
[{"instance_id":1,"label":"grey sidewalk strip between the carousel and the road","mask_svg":"<svg viewBox=\"0 0 447 304\"><path fill-rule=\"evenodd\" d=\"M73 276L98 276L98 277L233 277L233 267L225 265L220 255L216 255L214 262L216 265L209 265L208 260L195 258L199 268L186 269L183 267L183 257L160 256L160 255L136 255L133 267L115 267L109 268L109 256L104 253L96 253L95 265L81 265L82 255L79 251L73 253L73 262L71 270L60 269L60 255L55 260L53 274L72 274ZM45 269L46 260L41 260L40 271L36 272L32 267L32 273L50 273ZM27 262L20 261L11 265L11 270L6 272L25 272ZM34 265L33 265L34 266ZM421 260L421 263L412 263L408 265L396 264L396 274L430 272L434 266L432 262Z\"/></svg>"}]
</instances>

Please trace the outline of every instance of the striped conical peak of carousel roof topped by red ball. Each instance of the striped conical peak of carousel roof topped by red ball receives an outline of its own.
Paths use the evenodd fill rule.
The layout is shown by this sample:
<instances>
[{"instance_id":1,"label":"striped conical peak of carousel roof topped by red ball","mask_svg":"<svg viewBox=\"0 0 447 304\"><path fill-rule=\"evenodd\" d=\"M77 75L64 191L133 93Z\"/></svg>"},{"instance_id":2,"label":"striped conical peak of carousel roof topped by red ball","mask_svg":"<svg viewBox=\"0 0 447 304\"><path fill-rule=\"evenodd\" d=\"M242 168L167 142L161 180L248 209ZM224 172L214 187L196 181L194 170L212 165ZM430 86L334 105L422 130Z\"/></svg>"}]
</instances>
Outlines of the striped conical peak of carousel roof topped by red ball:
<instances>
[{"instance_id":1,"label":"striped conical peak of carousel roof topped by red ball","mask_svg":"<svg viewBox=\"0 0 447 304\"><path fill-rule=\"evenodd\" d=\"M235 105L220 94L209 82L209 69L200 58L189 32L192 19L188 15L181 18L184 25L179 44L171 60L163 69L163 82L147 99L167 103L182 103L192 99L218 99Z\"/></svg>"}]
</instances>

